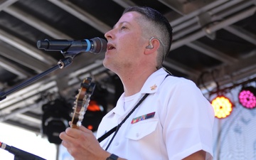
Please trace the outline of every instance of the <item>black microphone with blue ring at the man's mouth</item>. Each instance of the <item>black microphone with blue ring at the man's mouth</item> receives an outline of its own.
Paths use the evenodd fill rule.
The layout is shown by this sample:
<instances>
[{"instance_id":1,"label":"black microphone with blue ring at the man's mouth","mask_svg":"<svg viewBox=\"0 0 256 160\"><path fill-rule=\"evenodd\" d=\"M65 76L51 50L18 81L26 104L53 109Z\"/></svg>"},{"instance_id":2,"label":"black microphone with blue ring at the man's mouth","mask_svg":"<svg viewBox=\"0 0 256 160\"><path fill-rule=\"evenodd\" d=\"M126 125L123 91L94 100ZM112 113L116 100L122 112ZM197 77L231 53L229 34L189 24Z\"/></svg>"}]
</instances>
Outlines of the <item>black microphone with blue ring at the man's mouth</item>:
<instances>
[{"instance_id":1,"label":"black microphone with blue ring at the man's mouth","mask_svg":"<svg viewBox=\"0 0 256 160\"><path fill-rule=\"evenodd\" d=\"M90 52L105 53L107 51L107 41L102 38L92 38L90 40L48 40L37 41L38 49L49 51L60 51L61 53Z\"/></svg>"}]
</instances>

